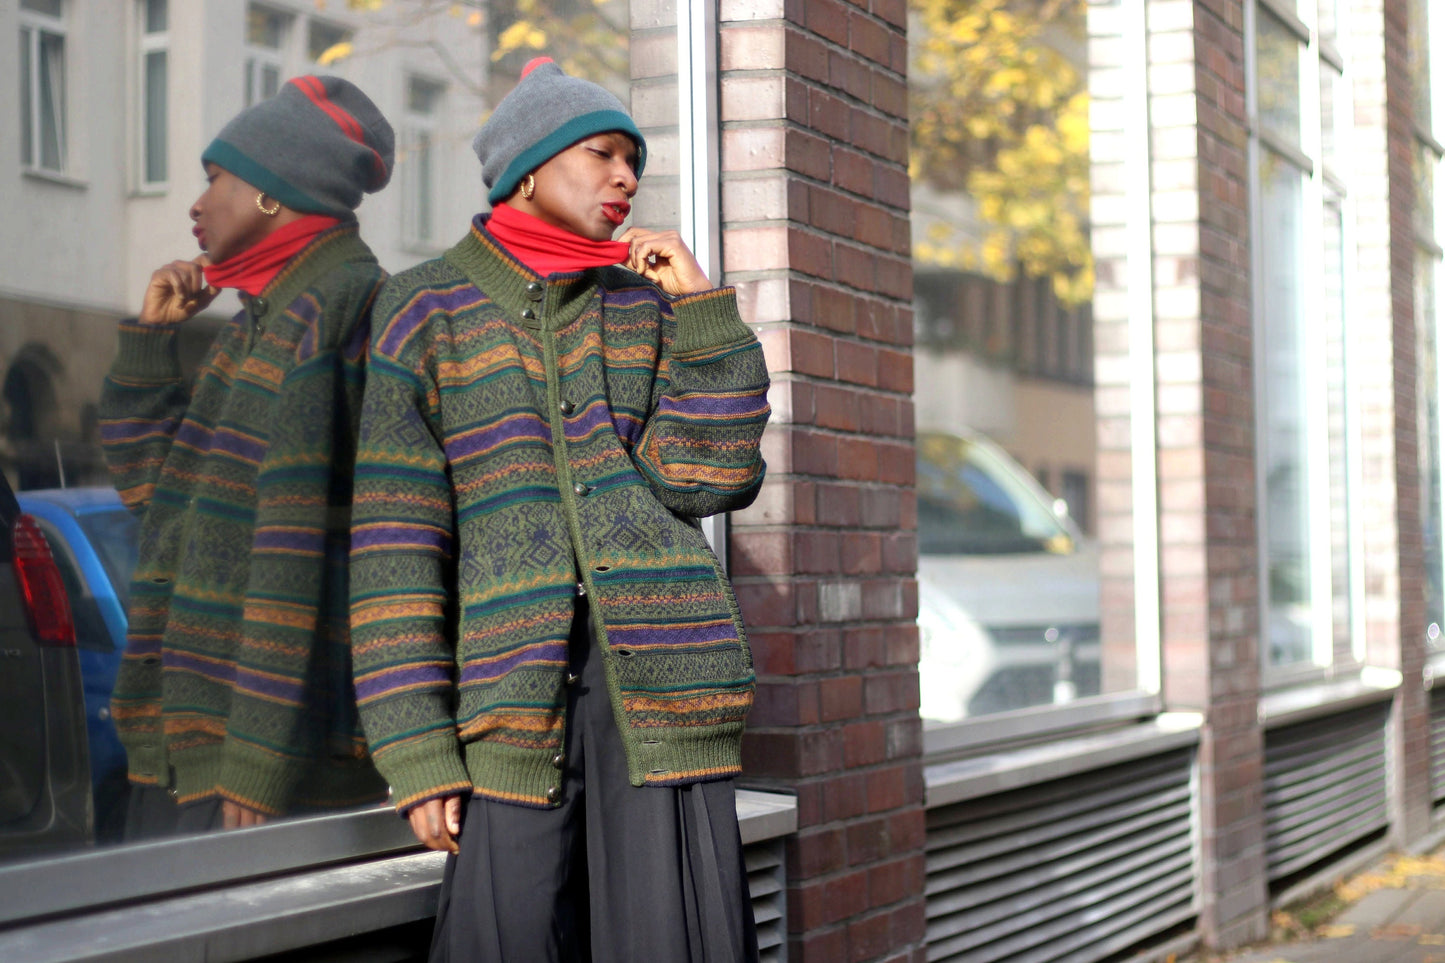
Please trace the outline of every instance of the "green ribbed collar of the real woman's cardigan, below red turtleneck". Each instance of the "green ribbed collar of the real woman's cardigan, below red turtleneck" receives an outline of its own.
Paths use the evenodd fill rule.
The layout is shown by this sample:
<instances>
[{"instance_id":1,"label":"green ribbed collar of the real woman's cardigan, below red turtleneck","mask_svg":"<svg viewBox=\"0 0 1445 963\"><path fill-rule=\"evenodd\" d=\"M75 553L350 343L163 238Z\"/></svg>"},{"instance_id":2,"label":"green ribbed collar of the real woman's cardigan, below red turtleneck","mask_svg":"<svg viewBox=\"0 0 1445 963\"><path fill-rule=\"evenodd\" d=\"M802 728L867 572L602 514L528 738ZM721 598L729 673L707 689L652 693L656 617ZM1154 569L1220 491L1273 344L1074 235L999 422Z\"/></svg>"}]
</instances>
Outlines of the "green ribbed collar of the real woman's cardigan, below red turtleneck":
<instances>
[{"instance_id":1,"label":"green ribbed collar of the real woman's cardigan, below red turtleneck","mask_svg":"<svg viewBox=\"0 0 1445 963\"><path fill-rule=\"evenodd\" d=\"M572 324L591 302L604 272L614 268L588 268L542 278L503 247L486 227L473 221L471 230L442 257L529 328L556 331ZM536 288L532 288L536 285ZM529 291L530 288L530 291ZM533 296L540 292L542 296ZM523 317L530 308L536 318Z\"/></svg>"}]
</instances>

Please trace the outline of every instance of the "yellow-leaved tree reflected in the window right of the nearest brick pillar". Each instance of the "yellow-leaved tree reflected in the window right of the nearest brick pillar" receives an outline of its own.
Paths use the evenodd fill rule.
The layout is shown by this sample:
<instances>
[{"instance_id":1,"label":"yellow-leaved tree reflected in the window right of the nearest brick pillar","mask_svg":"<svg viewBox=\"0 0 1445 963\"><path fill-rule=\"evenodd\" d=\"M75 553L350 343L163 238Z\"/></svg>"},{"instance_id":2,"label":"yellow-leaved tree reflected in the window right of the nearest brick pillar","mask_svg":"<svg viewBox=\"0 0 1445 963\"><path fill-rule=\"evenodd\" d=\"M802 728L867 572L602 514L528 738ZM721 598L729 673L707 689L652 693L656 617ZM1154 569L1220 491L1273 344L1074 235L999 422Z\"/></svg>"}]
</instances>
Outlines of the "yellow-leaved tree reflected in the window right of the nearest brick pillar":
<instances>
[{"instance_id":1,"label":"yellow-leaved tree reflected in the window right of the nearest brick pillar","mask_svg":"<svg viewBox=\"0 0 1445 963\"><path fill-rule=\"evenodd\" d=\"M968 241L932 226L915 257L996 281L1052 279L1088 301L1088 91L1084 0L910 0L912 176L975 204Z\"/></svg>"}]
</instances>

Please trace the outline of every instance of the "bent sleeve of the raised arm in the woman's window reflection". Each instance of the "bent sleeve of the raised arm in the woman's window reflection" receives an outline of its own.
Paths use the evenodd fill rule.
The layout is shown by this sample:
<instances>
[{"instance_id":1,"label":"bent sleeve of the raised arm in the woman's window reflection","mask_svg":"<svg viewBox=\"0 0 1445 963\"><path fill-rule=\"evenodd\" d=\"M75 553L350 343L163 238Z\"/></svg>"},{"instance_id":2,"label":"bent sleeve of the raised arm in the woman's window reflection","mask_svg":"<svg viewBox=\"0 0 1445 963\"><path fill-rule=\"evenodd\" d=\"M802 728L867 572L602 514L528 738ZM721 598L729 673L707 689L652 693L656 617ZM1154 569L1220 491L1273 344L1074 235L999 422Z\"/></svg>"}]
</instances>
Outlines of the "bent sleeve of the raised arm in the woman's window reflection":
<instances>
[{"instance_id":1,"label":"bent sleeve of the raised arm in the woman's window reflection","mask_svg":"<svg viewBox=\"0 0 1445 963\"><path fill-rule=\"evenodd\" d=\"M120 324L120 348L101 388L100 437L116 489L133 512L150 503L191 390L181 376L176 327Z\"/></svg>"}]
</instances>

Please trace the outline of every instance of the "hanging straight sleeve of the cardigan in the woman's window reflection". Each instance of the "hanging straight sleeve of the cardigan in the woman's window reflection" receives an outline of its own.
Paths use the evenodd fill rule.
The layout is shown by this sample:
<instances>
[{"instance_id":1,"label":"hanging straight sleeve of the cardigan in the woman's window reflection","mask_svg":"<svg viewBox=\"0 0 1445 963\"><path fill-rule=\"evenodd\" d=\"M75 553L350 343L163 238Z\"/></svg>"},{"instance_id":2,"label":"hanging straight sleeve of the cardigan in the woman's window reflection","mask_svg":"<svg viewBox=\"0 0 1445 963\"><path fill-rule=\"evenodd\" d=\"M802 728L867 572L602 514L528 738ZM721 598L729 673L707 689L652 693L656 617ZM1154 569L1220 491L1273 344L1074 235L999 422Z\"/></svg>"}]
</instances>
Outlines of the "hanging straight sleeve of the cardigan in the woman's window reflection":
<instances>
[{"instance_id":1,"label":"hanging straight sleeve of the cardigan in the woman's window reflection","mask_svg":"<svg viewBox=\"0 0 1445 963\"><path fill-rule=\"evenodd\" d=\"M361 318L341 346L306 357L315 331L301 338L257 473L218 787L263 813L286 811L308 761L344 755L353 727L345 564L367 308L332 307L337 317Z\"/></svg>"}]
</instances>

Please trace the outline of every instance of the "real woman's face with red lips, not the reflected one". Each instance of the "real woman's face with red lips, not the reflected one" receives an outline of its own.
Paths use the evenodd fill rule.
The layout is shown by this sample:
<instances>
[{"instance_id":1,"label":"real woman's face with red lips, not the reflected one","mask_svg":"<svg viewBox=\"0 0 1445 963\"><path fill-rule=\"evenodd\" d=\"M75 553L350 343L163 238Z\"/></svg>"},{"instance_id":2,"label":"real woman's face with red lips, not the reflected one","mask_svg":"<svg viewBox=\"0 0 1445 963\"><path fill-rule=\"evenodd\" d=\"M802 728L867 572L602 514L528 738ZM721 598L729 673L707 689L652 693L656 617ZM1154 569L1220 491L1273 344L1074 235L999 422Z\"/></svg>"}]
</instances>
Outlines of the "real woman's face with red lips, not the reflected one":
<instances>
[{"instance_id":1,"label":"real woman's face with red lips, not the reflected one","mask_svg":"<svg viewBox=\"0 0 1445 963\"><path fill-rule=\"evenodd\" d=\"M507 198L520 211L591 240L611 240L637 192L637 145L624 133L600 133L555 153L532 172L532 200Z\"/></svg>"}]
</instances>

